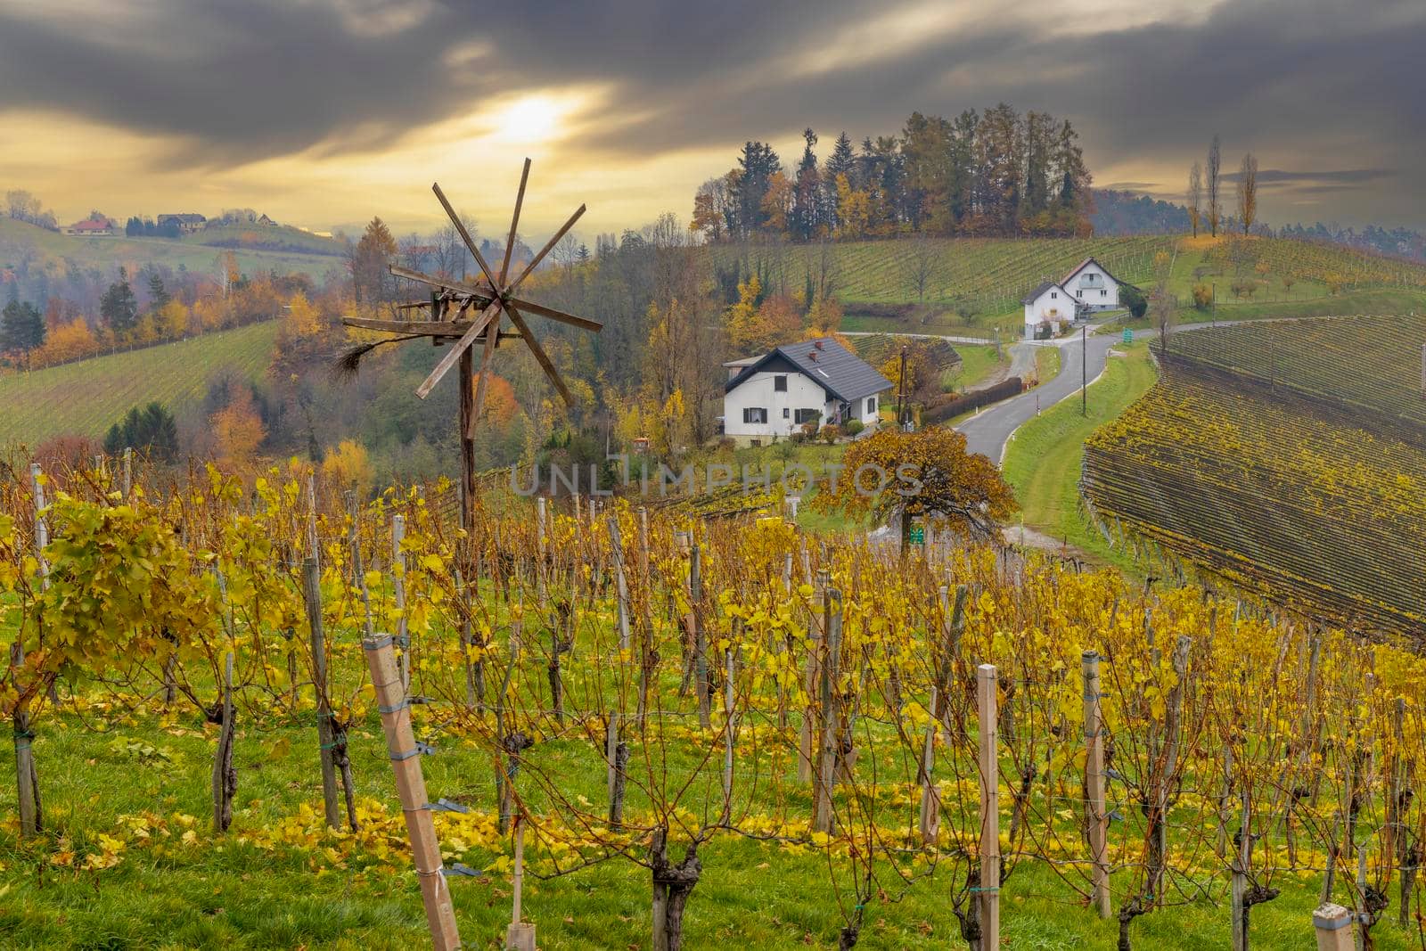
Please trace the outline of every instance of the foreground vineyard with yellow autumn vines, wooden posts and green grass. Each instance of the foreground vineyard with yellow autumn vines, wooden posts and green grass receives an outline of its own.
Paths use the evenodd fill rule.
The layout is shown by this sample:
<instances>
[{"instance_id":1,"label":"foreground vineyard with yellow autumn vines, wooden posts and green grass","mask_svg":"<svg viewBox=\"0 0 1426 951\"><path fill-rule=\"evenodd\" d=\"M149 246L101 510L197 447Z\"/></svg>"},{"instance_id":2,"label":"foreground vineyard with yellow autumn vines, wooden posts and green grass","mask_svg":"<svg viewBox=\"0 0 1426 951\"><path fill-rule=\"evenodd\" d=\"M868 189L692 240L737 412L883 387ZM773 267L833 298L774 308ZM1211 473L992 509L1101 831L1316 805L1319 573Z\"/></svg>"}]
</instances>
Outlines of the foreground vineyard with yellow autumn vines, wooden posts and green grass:
<instances>
[{"instance_id":1,"label":"foreground vineyard with yellow autumn vines, wooden posts and green grass","mask_svg":"<svg viewBox=\"0 0 1426 951\"><path fill-rule=\"evenodd\" d=\"M3 940L1426 947L1409 652L934 525L458 509L9 468Z\"/></svg>"}]
</instances>

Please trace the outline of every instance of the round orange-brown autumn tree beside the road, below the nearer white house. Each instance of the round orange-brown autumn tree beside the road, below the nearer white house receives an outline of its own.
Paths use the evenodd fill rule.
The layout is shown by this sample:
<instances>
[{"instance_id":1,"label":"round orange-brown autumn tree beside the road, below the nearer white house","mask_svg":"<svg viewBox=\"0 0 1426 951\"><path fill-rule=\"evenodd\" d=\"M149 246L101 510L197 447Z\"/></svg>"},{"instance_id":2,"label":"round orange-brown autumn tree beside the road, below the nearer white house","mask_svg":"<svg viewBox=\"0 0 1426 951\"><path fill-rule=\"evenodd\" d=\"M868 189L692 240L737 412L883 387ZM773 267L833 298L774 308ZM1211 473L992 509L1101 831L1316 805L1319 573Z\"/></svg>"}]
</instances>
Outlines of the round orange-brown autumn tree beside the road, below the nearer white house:
<instances>
[{"instance_id":1,"label":"round orange-brown autumn tree beside the road, below the nearer white house","mask_svg":"<svg viewBox=\"0 0 1426 951\"><path fill-rule=\"evenodd\" d=\"M945 426L878 429L853 442L813 505L853 516L870 512L877 520L900 516L903 550L914 516L990 539L1018 509L995 463L968 453L965 436Z\"/></svg>"}]
</instances>

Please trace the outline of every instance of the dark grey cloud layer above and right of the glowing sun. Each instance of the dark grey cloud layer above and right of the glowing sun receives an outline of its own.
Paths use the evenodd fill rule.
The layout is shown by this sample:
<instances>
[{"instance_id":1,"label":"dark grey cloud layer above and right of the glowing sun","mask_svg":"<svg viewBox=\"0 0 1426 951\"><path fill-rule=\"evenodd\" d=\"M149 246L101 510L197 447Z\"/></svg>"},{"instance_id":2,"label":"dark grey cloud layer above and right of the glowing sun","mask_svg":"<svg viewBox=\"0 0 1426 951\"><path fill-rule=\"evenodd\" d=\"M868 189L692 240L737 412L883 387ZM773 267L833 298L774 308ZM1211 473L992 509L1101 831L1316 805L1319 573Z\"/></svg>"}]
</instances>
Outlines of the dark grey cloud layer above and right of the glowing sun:
<instances>
[{"instance_id":1,"label":"dark grey cloud layer above and right of the glowing sun","mask_svg":"<svg viewBox=\"0 0 1426 951\"><path fill-rule=\"evenodd\" d=\"M830 43L856 30L876 43L887 4L874 0L153 0L118 29L30 4L0 0L6 103L183 135L174 163L374 150L543 86L613 88L585 150L727 147L729 165L746 138L793 143L813 125L826 148L843 128L860 140L911 110L1004 100L1070 117L1091 167L1186 180L1221 133L1225 170L1252 150L1273 163L1265 185L1336 187L1360 210L1343 217L1426 224L1426 190L1389 171L1426 150L1419 0L1225 0L1129 27L1095 4L1104 27L1072 33L1055 26L1077 20L1072 4L1031 16L964 0L947 9L965 24L880 57ZM1291 171L1298 158L1340 171Z\"/></svg>"}]
</instances>

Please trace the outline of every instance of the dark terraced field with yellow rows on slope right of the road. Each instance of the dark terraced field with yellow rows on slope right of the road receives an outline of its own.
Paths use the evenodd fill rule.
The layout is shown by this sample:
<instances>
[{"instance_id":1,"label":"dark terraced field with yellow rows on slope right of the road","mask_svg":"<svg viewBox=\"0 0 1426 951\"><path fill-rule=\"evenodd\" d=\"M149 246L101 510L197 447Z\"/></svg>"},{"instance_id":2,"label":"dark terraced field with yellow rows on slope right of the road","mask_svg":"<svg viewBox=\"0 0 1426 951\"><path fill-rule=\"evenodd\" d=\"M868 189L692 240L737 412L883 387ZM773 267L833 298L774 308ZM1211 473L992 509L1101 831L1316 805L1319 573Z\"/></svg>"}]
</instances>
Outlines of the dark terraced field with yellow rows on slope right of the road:
<instances>
[{"instance_id":1,"label":"dark terraced field with yellow rows on slope right of the road","mask_svg":"<svg viewBox=\"0 0 1426 951\"><path fill-rule=\"evenodd\" d=\"M1393 319L1181 335L1166 379L1085 443L1085 499L1111 536L1312 613L1426 632L1426 321Z\"/></svg>"}]
</instances>

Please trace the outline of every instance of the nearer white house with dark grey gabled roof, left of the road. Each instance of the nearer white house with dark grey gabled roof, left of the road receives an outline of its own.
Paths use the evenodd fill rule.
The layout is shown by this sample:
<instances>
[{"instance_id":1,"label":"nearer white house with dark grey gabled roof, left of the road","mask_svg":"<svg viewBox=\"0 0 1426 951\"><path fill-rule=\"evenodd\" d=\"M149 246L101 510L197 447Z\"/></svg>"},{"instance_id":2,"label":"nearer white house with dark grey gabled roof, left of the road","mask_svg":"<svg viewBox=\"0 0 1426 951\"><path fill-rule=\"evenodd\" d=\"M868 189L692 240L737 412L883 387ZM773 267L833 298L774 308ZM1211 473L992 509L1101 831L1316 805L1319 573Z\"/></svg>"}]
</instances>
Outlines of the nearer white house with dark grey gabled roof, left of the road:
<instances>
[{"instance_id":1,"label":"nearer white house with dark grey gabled roof, left of the road","mask_svg":"<svg viewBox=\"0 0 1426 951\"><path fill-rule=\"evenodd\" d=\"M841 425L878 418L891 381L831 338L786 344L724 364L723 433L761 445L787 438L803 423Z\"/></svg>"}]
</instances>

